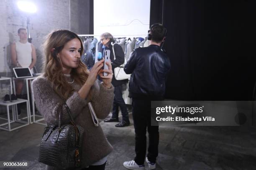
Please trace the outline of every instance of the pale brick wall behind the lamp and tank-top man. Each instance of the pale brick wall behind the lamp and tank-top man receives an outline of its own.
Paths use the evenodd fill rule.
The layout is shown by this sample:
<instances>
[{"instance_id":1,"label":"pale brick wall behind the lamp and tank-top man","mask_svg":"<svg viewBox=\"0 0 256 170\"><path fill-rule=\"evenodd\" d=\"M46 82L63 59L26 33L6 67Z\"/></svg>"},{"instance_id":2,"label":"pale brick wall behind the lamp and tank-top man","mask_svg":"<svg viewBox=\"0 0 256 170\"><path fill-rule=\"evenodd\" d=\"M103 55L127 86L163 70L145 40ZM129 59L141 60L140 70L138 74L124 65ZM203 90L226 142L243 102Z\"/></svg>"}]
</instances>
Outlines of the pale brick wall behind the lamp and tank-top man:
<instances>
[{"instance_id":1,"label":"pale brick wall behind the lamp and tank-top man","mask_svg":"<svg viewBox=\"0 0 256 170\"><path fill-rule=\"evenodd\" d=\"M10 43L19 40L18 28L26 28L27 14L21 12L16 0L0 0L0 75L10 75L8 58ZM36 47L36 67L41 70L44 37L54 29L69 29L89 34L90 0L33 0L38 10L29 15L30 35Z\"/></svg>"}]
</instances>

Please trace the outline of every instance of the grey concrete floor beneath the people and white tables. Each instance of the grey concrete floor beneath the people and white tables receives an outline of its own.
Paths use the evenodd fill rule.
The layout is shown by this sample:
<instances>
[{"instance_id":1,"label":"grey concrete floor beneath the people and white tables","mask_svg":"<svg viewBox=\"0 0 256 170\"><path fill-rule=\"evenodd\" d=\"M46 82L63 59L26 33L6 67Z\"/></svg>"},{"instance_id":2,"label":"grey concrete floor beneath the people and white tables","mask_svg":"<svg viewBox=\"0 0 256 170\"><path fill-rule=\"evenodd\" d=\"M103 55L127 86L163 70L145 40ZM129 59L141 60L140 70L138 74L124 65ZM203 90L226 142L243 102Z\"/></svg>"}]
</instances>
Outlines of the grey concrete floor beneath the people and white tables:
<instances>
[{"instance_id":1,"label":"grey concrete floor beneath the people and white tables","mask_svg":"<svg viewBox=\"0 0 256 170\"><path fill-rule=\"evenodd\" d=\"M125 128L115 128L116 122L100 122L114 148L106 170L126 170L123 162L135 156L131 111L129 116L131 125ZM38 124L12 132L0 130L0 161L23 160L29 168L20 169L43 170L45 165L37 161L43 130L44 125ZM256 170L256 128L176 126L159 131L156 170Z\"/></svg>"}]
</instances>

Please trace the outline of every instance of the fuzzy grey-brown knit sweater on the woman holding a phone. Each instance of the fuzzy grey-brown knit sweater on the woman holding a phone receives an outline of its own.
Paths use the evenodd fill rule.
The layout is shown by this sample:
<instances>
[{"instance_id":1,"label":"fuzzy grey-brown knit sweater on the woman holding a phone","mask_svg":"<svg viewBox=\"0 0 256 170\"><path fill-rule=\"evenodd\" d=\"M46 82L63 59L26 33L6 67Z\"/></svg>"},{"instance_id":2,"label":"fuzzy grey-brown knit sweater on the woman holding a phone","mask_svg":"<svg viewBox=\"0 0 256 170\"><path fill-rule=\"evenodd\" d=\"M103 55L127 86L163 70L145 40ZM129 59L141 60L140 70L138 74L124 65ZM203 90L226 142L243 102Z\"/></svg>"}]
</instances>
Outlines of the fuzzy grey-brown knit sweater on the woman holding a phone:
<instances>
[{"instance_id":1,"label":"fuzzy grey-brown knit sweater on the woman holding a phone","mask_svg":"<svg viewBox=\"0 0 256 170\"><path fill-rule=\"evenodd\" d=\"M59 112L62 112L62 123L67 124L70 121L67 110L63 105L63 100L51 88L51 83L45 77L38 77L33 80L32 86L36 107L44 116L47 124L58 125ZM84 128L81 161L81 168L83 168L104 158L113 148L103 134L101 126L95 127L87 101L82 99L77 92L81 86L76 82L72 86L76 92L67 99L66 103L75 123ZM104 119L110 113L113 99L113 85L111 89L108 89L102 83L96 81L92 87L91 102L99 119Z\"/></svg>"}]
</instances>

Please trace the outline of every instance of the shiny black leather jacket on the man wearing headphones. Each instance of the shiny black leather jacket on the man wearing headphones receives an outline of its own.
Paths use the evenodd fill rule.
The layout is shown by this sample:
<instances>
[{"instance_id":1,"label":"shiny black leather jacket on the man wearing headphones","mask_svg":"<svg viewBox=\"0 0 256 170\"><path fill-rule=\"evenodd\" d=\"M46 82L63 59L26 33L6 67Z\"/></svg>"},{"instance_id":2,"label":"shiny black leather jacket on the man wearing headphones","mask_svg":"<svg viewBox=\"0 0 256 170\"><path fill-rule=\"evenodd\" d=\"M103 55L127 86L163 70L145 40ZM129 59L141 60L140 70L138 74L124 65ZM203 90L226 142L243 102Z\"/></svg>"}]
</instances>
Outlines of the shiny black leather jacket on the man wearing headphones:
<instances>
[{"instance_id":1,"label":"shiny black leather jacket on the man wearing headphones","mask_svg":"<svg viewBox=\"0 0 256 170\"><path fill-rule=\"evenodd\" d=\"M169 58L158 45L133 50L124 67L132 74L129 82L129 97L162 100L165 81L171 67Z\"/></svg>"}]
</instances>

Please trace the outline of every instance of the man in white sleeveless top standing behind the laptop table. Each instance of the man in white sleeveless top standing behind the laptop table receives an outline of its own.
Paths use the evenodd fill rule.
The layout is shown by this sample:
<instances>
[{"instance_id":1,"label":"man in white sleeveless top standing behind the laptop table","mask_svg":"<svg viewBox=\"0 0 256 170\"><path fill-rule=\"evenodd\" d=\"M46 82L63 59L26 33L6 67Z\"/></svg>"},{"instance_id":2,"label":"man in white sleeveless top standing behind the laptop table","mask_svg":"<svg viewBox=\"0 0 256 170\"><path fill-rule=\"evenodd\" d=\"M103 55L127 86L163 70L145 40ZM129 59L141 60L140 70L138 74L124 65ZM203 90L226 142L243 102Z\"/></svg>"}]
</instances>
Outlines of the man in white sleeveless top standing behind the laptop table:
<instances>
[{"instance_id":1,"label":"man in white sleeveless top standing behind the laptop table","mask_svg":"<svg viewBox=\"0 0 256 170\"><path fill-rule=\"evenodd\" d=\"M27 30L25 28L18 29L20 40L11 45L11 59L14 67L29 67L32 71L36 64L36 49L27 40ZM16 95L21 97L23 88L23 80L16 80ZM19 111L18 111L19 112Z\"/></svg>"}]
</instances>

